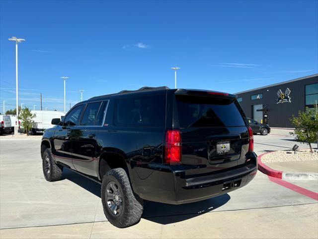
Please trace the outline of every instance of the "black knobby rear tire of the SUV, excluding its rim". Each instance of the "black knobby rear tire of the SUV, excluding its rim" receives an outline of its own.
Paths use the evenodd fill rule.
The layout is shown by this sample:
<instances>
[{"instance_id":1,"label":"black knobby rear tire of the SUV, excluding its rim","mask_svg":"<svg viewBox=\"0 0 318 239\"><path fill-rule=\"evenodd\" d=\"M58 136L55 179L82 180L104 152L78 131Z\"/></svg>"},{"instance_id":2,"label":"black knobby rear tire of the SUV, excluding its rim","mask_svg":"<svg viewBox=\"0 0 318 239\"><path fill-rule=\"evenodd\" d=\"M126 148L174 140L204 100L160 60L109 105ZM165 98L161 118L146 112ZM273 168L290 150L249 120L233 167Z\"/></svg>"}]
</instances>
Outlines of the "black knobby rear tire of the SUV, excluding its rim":
<instances>
[{"instance_id":1,"label":"black knobby rear tire of the SUV, excluding its rim","mask_svg":"<svg viewBox=\"0 0 318 239\"><path fill-rule=\"evenodd\" d=\"M114 182L118 186L122 197L122 208L119 215L113 215L107 204L107 185ZM103 177L101 184L101 202L108 221L117 228L126 228L140 221L143 214L143 200L135 195L129 182L128 175L123 168L109 170Z\"/></svg>"}]
</instances>

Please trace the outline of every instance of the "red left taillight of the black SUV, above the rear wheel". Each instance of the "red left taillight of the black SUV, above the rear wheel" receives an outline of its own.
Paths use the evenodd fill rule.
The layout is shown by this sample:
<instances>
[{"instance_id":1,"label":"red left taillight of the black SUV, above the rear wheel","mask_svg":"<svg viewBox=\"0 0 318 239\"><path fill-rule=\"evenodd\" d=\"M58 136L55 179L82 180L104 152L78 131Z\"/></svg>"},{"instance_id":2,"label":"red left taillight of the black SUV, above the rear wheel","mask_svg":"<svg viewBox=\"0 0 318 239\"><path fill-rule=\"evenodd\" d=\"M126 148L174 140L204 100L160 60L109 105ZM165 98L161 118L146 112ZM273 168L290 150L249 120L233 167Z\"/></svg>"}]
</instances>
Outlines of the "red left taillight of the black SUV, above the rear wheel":
<instances>
[{"instance_id":1,"label":"red left taillight of the black SUV, above the rear wheel","mask_svg":"<svg viewBox=\"0 0 318 239\"><path fill-rule=\"evenodd\" d=\"M179 164L181 162L181 133L179 130L167 130L164 148L165 163Z\"/></svg>"}]
</instances>

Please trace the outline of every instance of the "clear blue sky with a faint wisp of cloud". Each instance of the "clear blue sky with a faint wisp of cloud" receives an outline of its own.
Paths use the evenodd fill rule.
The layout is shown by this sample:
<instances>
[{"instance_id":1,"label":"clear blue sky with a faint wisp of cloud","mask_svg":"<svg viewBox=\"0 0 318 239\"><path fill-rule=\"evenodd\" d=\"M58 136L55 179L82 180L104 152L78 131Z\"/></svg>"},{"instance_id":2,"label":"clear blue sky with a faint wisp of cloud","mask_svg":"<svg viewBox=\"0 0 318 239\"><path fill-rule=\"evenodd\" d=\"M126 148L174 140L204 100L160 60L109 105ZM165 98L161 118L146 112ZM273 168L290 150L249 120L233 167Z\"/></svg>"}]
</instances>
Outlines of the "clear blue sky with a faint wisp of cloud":
<instances>
[{"instance_id":1,"label":"clear blue sky with a faint wisp of cloud","mask_svg":"<svg viewBox=\"0 0 318 239\"><path fill-rule=\"evenodd\" d=\"M0 1L0 112L174 87L235 93L318 72L318 1Z\"/></svg>"}]
</instances>

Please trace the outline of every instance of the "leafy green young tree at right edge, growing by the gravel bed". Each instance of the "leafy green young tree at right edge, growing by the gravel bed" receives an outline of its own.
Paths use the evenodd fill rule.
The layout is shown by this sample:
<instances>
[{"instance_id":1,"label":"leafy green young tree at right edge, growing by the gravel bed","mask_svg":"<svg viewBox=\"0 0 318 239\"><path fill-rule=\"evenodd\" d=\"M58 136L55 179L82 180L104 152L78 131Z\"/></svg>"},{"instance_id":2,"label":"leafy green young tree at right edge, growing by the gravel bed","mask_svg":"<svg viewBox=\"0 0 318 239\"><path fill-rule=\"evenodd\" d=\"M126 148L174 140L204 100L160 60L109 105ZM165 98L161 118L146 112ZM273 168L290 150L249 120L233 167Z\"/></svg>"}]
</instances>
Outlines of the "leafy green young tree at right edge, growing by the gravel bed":
<instances>
[{"instance_id":1,"label":"leafy green young tree at right edge, growing by the gravel bed","mask_svg":"<svg viewBox=\"0 0 318 239\"><path fill-rule=\"evenodd\" d=\"M298 117L293 115L290 119L295 125L295 131L290 132L296 137L298 142L308 143L310 151L313 152L312 142L318 138L318 111L317 107L313 111L299 112Z\"/></svg>"}]
</instances>

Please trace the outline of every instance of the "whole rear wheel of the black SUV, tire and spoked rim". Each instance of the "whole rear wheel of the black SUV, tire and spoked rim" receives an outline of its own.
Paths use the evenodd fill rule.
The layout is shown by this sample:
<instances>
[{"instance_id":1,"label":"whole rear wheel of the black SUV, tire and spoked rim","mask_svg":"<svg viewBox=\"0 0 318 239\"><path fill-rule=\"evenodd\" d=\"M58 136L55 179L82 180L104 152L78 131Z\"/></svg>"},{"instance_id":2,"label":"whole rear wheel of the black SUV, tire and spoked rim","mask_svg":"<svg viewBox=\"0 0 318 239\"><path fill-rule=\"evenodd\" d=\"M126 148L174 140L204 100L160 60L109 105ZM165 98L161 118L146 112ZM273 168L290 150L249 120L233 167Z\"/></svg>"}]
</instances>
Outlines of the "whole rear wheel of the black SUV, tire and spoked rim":
<instances>
[{"instance_id":1,"label":"whole rear wheel of the black SUV, tire and spoked rim","mask_svg":"<svg viewBox=\"0 0 318 239\"><path fill-rule=\"evenodd\" d=\"M123 168L109 170L101 184L101 202L108 221L118 228L126 228L140 221L143 200L134 195Z\"/></svg>"}]
</instances>

